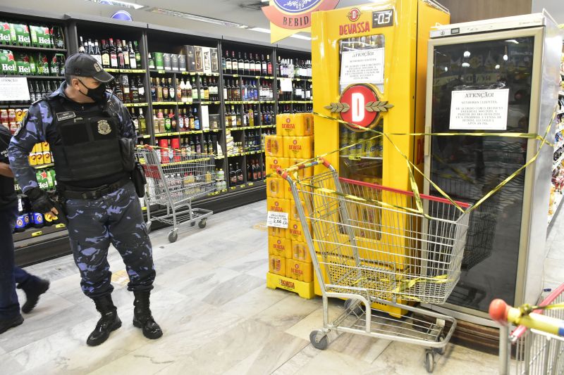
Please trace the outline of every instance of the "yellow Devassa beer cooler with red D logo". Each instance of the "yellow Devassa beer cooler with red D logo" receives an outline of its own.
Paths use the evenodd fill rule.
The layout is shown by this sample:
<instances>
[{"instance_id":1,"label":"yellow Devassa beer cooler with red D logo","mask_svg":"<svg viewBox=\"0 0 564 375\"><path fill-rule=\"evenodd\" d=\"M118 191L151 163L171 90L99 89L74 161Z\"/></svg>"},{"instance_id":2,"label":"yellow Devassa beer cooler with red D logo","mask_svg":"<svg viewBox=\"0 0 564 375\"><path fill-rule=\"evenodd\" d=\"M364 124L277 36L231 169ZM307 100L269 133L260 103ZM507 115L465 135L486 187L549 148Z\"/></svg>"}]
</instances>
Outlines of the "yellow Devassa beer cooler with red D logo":
<instances>
[{"instance_id":1,"label":"yellow Devassa beer cooler with red D logo","mask_svg":"<svg viewBox=\"0 0 564 375\"><path fill-rule=\"evenodd\" d=\"M329 153L341 177L411 190L405 156L423 170L423 136L390 135L405 156L384 138L343 147L376 135L362 127L387 134L424 132L429 31L449 22L448 10L431 0L376 1L312 14L315 153ZM316 168L317 173L324 167ZM421 188L422 177L415 177ZM314 282L321 295L317 277Z\"/></svg>"}]
</instances>

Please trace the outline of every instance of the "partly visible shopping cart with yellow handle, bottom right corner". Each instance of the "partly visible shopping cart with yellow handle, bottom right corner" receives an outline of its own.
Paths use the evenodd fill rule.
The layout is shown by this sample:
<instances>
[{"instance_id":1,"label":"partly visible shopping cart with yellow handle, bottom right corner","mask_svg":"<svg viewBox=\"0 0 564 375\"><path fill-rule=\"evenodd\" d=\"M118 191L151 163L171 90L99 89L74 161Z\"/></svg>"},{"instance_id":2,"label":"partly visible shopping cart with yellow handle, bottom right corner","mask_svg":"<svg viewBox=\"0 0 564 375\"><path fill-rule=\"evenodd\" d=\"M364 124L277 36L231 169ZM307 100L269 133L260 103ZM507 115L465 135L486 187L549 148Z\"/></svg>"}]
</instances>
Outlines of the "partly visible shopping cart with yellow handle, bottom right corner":
<instances>
[{"instance_id":1,"label":"partly visible shopping cart with yellow handle, bottom right corner","mask_svg":"<svg viewBox=\"0 0 564 375\"><path fill-rule=\"evenodd\" d=\"M539 306L515 308L503 300L491 301L489 314L501 324L500 374L564 374L563 309L564 284ZM510 332L508 323L517 328Z\"/></svg>"}]
</instances>

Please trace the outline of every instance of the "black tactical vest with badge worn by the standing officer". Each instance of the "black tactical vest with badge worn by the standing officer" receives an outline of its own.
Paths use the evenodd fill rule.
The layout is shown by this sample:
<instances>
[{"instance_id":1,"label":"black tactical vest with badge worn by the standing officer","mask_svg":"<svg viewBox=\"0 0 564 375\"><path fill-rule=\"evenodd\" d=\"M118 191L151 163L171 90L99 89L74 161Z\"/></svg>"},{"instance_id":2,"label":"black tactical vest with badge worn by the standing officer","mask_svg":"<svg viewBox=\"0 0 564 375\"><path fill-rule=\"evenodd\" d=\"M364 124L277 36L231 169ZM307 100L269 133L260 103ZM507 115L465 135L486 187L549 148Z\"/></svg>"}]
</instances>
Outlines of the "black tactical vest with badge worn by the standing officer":
<instances>
[{"instance_id":1,"label":"black tactical vest with badge worn by the standing officer","mask_svg":"<svg viewBox=\"0 0 564 375\"><path fill-rule=\"evenodd\" d=\"M51 145L57 181L72 184L123 172L116 115L103 106L69 110L62 101L47 101L59 134Z\"/></svg>"}]
</instances>

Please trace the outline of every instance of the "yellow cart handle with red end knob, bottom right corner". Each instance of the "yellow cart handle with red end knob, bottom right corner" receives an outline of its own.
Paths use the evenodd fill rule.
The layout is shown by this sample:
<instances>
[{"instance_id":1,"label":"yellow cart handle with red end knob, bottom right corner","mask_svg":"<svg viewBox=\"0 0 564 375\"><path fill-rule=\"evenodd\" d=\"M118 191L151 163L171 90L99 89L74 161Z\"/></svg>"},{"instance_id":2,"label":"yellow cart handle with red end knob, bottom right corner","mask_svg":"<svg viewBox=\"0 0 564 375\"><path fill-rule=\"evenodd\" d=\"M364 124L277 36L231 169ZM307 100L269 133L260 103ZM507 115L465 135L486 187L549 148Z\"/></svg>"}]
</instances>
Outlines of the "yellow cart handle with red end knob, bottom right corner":
<instances>
[{"instance_id":1,"label":"yellow cart handle with red end knob, bottom right corner","mask_svg":"<svg viewBox=\"0 0 564 375\"><path fill-rule=\"evenodd\" d=\"M564 336L564 322L560 319L547 317L544 314L531 312L524 314L520 309L512 307L499 298L491 301L489 315L496 322L506 325L508 322L524 327L519 335L529 329L537 329L556 336ZM512 334L515 337L515 334Z\"/></svg>"}]
</instances>

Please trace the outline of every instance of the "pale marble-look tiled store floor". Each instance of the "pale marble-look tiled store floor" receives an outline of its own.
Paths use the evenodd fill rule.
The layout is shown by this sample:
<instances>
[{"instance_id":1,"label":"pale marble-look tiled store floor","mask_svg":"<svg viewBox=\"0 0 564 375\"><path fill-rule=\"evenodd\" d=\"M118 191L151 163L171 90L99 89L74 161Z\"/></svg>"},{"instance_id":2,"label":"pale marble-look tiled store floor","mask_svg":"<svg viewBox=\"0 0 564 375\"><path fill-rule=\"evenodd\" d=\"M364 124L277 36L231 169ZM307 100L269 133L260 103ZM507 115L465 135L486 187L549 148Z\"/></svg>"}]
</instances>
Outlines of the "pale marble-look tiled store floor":
<instances>
[{"instance_id":1,"label":"pale marble-look tiled store floor","mask_svg":"<svg viewBox=\"0 0 564 375\"><path fill-rule=\"evenodd\" d=\"M546 262L546 284L563 280L558 215ZM304 300L265 287L264 202L221 212L206 229L152 234L157 281L152 310L164 336L149 341L131 325L133 295L123 262L111 250L114 302L124 322L106 343L85 340L97 322L80 292L70 256L29 267L51 290L23 325L0 335L0 374L427 374L424 350L403 343L342 334L317 350L309 332L322 324L321 299ZM23 295L20 295L23 298ZM333 312L341 303L332 303ZM496 374L498 358L449 345L434 374Z\"/></svg>"}]
</instances>

